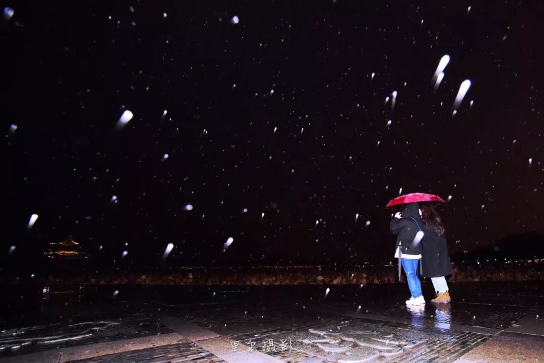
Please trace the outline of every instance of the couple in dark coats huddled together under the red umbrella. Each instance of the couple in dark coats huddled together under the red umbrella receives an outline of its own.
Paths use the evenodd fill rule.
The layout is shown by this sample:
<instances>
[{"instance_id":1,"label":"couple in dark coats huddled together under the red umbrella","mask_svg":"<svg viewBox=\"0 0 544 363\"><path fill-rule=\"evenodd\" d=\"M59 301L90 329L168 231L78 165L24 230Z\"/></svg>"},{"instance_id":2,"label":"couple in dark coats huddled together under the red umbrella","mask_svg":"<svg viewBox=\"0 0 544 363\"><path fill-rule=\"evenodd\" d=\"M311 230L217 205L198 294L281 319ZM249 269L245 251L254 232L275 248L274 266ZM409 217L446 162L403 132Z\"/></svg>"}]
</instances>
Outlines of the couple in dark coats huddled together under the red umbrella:
<instances>
[{"instance_id":1,"label":"couple in dark coats huddled together under the red umbrella","mask_svg":"<svg viewBox=\"0 0 544 363\"><path fill-rule=\"evenodd\" d=\"M432 303L449 303L448 284L445 276L453 274L449 261L446 230L432 202L412 202L403 205L401 212L395 214L390 224L391 232L397 235L395 257L404 268L411 298L407 305L425 304L421 291L419 273L430 278L436 291Z\"/></svg>"}]
</instances>

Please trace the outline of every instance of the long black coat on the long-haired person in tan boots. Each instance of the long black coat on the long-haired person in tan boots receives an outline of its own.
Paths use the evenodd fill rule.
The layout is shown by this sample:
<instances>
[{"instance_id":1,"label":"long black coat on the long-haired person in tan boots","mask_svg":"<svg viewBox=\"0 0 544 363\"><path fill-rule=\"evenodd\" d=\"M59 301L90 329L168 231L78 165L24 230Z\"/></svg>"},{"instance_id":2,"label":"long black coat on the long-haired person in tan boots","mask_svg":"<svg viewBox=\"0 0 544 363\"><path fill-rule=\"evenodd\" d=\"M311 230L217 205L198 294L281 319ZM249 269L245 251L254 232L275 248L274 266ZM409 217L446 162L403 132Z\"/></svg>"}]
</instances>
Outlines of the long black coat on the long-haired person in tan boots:
<instances>
[{"instance_id":1,"label":"long black coat on the long-haired person in tan boots","mask_svg":"<svg viewBox=\"0 0 544 363\"><path fill-rule=\"evenodd\" d=\"M446 237L432 226L423 226L425 235L421 240L423 246L421 266L422 275L426 278L438 278L453 274L449 261Z\"/></svg>"}]
</instances>

